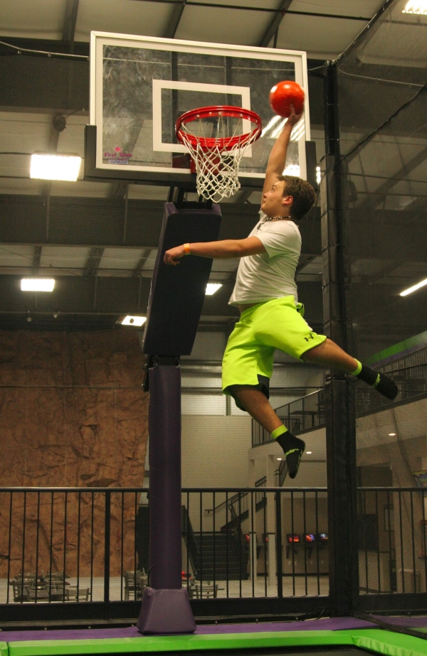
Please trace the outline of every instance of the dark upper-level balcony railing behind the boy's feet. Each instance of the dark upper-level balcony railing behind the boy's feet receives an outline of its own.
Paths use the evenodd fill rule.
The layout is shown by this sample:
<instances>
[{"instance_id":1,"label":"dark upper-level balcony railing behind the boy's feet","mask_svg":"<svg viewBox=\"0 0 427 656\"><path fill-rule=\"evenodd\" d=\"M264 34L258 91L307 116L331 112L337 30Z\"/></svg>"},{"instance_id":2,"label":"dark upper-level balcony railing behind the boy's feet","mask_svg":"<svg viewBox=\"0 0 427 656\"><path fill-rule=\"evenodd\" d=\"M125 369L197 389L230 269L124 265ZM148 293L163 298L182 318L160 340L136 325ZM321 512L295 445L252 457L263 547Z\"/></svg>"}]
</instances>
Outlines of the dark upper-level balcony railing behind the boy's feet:
<instances>
[{"instance_id":1,"label":"dark upper-level balcony railing behind the boy's feet","mask_svg":"<svg viewBox=\"0 0 427 656\"><path fill-rule=\"evenodd\" d=\"M381 396L364 382L354 380L356 385L357 416L374 414L391 406L413 402L427 396L427 365L413 365L393 370L390 375L399 387L396 399L391 401ZM283 424L293 434L305 433L325 426L325 389L307 394L275 409ZM252 446L271 442L270 433L258 421L252 420Z\"/></svg>"}]
</instances>

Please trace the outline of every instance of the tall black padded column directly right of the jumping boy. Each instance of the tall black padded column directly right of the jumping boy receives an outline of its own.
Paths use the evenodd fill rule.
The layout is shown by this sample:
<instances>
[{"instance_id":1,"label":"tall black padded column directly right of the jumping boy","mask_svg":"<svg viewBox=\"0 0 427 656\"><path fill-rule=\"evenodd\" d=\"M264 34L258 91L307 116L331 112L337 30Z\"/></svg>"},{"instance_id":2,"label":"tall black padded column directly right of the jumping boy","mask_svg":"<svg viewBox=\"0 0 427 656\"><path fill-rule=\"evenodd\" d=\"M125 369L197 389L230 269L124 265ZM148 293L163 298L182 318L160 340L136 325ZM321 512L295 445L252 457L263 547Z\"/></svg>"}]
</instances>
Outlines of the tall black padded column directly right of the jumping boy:
<instances>
[{"instance_id":1,"label":"tall black padded column directly right of the jumping boy","mask_svg":"<svg viewBox=\"0 0 427 656\"><path fill-rule=\"evenodd\" d=\"M325 142L321 161L323 312L325 335L347 350L349 284L347 215L342 206L337 70L327 63ZM356 426L354 385L342 371L326 371L327 488L332 614L350 615L359 581L357 563Z\"/></svg>"}]
</instances>

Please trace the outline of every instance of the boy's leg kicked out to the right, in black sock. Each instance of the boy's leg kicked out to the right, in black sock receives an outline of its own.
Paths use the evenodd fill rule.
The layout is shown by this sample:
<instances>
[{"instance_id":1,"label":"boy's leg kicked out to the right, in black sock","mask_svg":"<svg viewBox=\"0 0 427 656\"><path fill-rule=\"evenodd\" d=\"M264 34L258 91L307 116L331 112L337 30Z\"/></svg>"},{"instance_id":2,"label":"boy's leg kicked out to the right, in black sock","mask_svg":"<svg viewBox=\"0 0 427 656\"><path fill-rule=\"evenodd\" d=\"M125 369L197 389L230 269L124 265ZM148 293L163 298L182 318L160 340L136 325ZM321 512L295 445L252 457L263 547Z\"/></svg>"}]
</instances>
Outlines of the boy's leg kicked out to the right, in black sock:
<instances>
[{"instance_id":1,"label":"boy's leg kicked out to the right, in black sock","mask_svg":"<svg viewBox=\"0 0 427 656\"><path fill-rule=\"evenodd\" d=\"M371 385L387 399L395 399L399 392L396 383L389 376L371 369L367 365L362 365L362 362L346 353L329 338L322 344L302 353L301 360L315 362L320 365L332 365L342 369Z\"/></svg>"}]
</instances>

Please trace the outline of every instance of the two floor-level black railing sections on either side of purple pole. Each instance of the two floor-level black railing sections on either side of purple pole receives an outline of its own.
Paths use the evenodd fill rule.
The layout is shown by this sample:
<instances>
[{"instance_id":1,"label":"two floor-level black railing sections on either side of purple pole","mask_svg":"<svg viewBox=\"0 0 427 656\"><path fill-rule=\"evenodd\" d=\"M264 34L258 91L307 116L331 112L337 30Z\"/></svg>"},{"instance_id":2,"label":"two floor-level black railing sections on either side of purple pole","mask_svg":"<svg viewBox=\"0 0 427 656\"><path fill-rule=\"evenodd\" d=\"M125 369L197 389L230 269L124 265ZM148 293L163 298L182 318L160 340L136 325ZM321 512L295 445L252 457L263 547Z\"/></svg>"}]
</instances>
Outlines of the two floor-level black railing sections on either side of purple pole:
<instances>
[{"instance_id":1,"label":"two floor-level black railing sections on either side of purple pole","mask_svg":"<svg viewBox=\"0 0 427 656\"><path fill-rule=\"evenodd\" d=\"M73 618L83 602L113 608L141 599L149 585L136 526L142 493L0 488L0 608L13 605L19 619L19 608L62 605ZM247 500L245 512L236 497ZM327 596L327 544L316 542L327 534L325 488L266 488L265 480L254 488L186 488L182 505L190 598ZM307 542L306 534L314 537Z\"/></svg>"}]
</instances>

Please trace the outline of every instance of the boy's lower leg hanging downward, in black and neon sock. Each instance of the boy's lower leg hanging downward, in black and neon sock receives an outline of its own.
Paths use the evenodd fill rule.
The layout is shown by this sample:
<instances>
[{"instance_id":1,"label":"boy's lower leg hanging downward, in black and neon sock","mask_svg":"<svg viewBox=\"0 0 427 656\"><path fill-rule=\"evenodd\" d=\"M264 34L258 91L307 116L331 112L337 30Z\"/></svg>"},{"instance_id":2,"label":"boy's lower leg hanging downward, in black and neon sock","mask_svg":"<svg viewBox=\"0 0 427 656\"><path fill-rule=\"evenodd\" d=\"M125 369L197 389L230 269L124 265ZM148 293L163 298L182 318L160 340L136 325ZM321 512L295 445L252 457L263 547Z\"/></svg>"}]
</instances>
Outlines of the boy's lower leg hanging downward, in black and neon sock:
<instances>
[{"instance_id":1,"label":"boy's lower leg hanging downward, in black and neon sock","mask_svg":"<svg viewBox=\"0 0 427 656\"><path fill-rule=\"evenodd\" d=\"M260 389L251 385L233 385L230 391L233 397L238 399L241 407L278 441L285 453L289 476L295 478L304 453L305 442L288 431Z\"/></svg>"}]
</instances>

